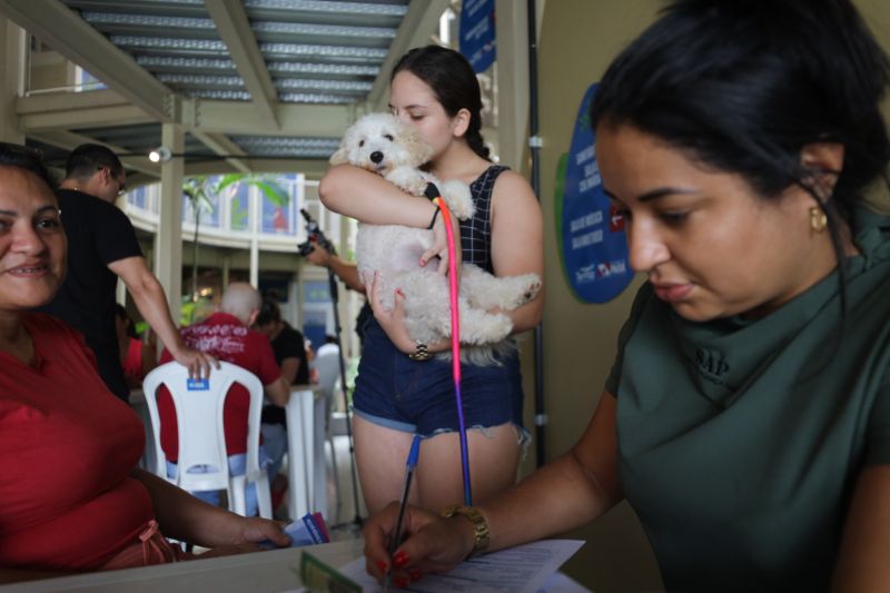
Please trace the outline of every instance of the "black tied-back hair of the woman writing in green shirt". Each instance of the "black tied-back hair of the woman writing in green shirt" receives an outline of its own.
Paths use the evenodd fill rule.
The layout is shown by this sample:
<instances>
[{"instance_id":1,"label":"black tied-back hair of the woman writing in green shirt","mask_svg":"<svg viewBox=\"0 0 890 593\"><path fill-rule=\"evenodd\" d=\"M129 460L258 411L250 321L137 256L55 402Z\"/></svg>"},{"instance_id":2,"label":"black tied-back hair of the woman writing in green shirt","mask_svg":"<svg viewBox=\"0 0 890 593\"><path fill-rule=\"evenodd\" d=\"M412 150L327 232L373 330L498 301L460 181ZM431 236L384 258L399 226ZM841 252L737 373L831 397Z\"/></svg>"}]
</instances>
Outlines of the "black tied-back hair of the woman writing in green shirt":
<instances>
[{"instance_id":1,"label":"black tied-back hair of the woman writing in green shirt","mask_svg":"<svg viewBox=\"0 0 890 593\"><path fill-rule=\"evenodd\" d=\"M849 0L678 0L609 67L591 122L631 125L765 199L803 187L828 217L843 286L841 219L887 181L888 82L888 58ZM814 184L825 171L801 164L812 142L844 149L828 200Z\"/></svg>"}]
</instances>

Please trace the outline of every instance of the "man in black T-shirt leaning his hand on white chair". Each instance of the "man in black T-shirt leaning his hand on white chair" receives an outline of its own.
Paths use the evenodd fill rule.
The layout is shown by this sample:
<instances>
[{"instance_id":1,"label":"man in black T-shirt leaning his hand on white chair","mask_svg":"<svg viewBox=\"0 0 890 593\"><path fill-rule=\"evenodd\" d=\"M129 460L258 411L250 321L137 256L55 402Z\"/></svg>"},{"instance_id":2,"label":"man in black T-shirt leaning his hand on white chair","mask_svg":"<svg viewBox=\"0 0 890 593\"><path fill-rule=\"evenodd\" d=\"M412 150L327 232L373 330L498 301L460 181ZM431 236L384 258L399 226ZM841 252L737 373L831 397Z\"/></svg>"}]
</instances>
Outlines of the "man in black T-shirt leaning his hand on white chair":
<instances>
[{"instance_id":1,"label":"man in black T-shirt leaning his hand on white chair","mask_svg":"<svg viewBox=\"0 0 890 593\"><path fill-rule=\"evenodd\" d=\"M56 297L41 310L83 334L96 354L102 379L126 402L129 388L115 332L118 277L177 362L188 366L192 375L208 373L216 362L182 344L164 288L142 257L136 230L113 206L127 189L123 175L118 157L103 146L81 145L69 155L66 178L57 192L68 235L68 274Z\"/></svg>"}]
</instances>

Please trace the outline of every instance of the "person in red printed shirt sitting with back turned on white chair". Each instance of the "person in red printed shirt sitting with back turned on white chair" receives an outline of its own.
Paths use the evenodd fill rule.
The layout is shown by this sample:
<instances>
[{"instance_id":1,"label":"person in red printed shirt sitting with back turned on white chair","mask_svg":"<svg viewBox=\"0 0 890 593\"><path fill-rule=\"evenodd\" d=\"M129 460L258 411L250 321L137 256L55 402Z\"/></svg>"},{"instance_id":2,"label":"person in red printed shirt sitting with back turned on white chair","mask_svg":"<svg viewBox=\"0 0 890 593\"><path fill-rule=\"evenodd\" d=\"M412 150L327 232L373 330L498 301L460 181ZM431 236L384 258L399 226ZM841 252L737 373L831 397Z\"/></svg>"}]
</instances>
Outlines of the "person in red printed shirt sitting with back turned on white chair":
<instances>
[{"instance_id":1,"label":"person in red printed shirt sitting with back turned on white chair","mask_svg":"<svg viewBox=\"0 0 890 593\"><path fill-rule=\"evenodd\" d=\"M233 283L222 294L219 310L199 324L180 329L182 343L190 348L212 355L219 360L238 365L257 377L264 385L264 393L269 401L285 406L290 397L290 386L281 376L275 362L269 340L259 332L250 329L259 315L263 299L256 288L246 283ZM161 364L172 360L165 350ZM250 396L241 385L234 385L226 396L222 408L226 428L226 452L229 457L229 472L244 474L247 453L247 412ZM172 398L166 387L158 393L158 413L160 415L160 443L167 457L167 473L176 475L176 462L179 455L178 424ZM260 465L270 465L273 459L264 446L259 447ZM275 477L275 476L269 476ZM210 504L219 504L219 493L194 492L195 496ZM257 512L255 485L247 491L247 514Z\"/></svg>"}]
</instances>

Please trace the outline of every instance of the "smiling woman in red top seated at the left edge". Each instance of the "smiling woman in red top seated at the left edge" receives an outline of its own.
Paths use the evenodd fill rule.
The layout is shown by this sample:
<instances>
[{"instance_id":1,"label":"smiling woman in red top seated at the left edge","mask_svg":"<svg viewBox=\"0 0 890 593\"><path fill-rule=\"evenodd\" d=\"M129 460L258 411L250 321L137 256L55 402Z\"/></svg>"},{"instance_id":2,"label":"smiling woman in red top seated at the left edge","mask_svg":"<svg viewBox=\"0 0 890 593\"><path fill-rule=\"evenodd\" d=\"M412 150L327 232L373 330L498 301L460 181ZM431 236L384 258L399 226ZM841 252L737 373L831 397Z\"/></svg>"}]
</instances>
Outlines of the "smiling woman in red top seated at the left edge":
<instances>
[{"instance_id":1,"label":"smiling woman in red top seated at the left edge","mask_svg":"<svg viewBox=\"0 0 890 593\"><path fill-rule=\"evenodd\" d=\"M0 144L0 583L178 560L159 528L209 555L287 545L277 523L135 468L139 419L79 334L28 313L65 278L60 215L37 154Z\"/></svg>"}]
</instances>

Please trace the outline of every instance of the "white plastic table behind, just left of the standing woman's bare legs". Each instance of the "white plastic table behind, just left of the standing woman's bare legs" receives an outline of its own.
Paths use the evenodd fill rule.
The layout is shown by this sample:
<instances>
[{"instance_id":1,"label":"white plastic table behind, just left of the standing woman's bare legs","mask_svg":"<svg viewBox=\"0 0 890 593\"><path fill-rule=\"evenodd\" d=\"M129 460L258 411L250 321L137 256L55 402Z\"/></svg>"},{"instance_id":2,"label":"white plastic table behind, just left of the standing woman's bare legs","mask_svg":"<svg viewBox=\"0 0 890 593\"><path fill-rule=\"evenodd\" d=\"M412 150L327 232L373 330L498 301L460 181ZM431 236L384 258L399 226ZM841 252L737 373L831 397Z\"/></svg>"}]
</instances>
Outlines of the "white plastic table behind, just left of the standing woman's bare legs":
<instances>
[{"instance_id":1,"label":"white plastic table behind, just left of the standing woman's bare legs","mask_svg":"<svg viewBox=\"0 0 890 593\"><path fill-rule=\"evenodd\" d=\"M327 402L318 385L294 385L285 407L287 415L288 490L290 518L306 513L327 514L325 416Z\"/></svg>"}]
</instances>

